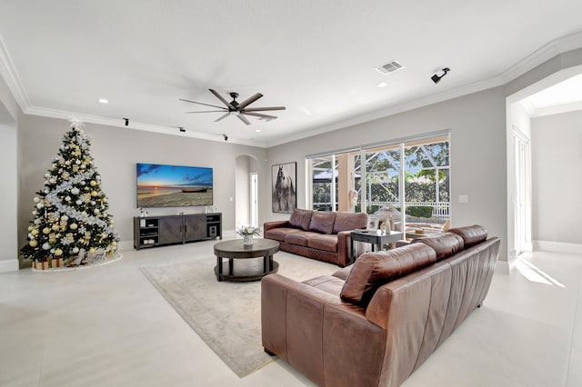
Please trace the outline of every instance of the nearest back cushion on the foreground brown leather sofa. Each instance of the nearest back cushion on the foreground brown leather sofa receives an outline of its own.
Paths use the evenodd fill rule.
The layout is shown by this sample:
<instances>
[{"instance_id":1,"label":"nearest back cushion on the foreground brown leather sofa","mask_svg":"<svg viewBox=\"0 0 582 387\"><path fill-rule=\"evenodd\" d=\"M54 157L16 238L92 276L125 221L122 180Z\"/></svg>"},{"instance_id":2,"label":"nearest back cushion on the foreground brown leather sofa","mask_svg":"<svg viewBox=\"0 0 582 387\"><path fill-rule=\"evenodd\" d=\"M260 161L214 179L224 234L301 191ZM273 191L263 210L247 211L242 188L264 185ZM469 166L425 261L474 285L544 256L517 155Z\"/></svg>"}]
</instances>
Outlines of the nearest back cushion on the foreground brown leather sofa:
<instances>
[{"instance_id":1,"label":"nearest back cushion on the foreground brown leather sofa","mask_svg":"<svg viewBox=\"0 0 582 387\"><path fill-rule=\"evenodd\" d=\"M437 253L424 243L365 253L356 260L340 297L351 303L367 305L381 285L435 262Z\"/></svg>"}]
</instances>

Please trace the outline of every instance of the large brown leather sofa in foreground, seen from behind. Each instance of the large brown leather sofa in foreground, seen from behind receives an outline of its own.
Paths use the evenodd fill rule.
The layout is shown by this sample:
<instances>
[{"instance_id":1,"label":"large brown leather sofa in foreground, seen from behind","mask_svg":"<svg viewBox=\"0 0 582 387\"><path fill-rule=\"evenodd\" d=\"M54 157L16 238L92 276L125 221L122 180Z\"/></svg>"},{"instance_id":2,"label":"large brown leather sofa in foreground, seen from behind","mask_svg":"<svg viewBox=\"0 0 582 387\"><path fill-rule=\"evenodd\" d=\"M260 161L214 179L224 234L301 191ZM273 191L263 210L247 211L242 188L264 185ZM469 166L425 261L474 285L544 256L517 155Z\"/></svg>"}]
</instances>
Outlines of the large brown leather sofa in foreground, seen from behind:
<instances>
[{"instance_id":1,"label":"large brown leather sofa in foreground, seen from behind","mask_svg":"<svg viewBox=\"0 0 582 387\"><path fill-rule=\"evenodd\" d=\"M267 275L263 346L320 386L400 385L483 303L499 243L474 225L304 283Z\"/></svg>"}]
</instances>

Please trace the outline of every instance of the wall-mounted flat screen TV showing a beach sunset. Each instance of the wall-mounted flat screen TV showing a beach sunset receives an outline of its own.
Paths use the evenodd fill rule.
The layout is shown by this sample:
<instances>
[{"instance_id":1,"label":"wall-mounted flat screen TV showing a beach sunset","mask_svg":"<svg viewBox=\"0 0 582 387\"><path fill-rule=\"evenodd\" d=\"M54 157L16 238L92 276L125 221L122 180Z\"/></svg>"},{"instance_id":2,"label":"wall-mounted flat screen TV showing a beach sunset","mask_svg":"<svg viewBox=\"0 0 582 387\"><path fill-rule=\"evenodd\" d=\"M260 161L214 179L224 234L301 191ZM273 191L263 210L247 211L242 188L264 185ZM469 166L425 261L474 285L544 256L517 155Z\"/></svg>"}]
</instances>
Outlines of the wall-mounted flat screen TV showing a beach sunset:
<instances>
[{"instance_id":1,"label":"wall-mounted flat screen TV showing a beach sunset","mask_svg":"<svg viewBox=\"0 0 582 387\"><path fill-rule=\"evenodd\" d=\"M135 165L137 207L182 207L213 204L212 168Z\"/></svg>"}]
</instances>

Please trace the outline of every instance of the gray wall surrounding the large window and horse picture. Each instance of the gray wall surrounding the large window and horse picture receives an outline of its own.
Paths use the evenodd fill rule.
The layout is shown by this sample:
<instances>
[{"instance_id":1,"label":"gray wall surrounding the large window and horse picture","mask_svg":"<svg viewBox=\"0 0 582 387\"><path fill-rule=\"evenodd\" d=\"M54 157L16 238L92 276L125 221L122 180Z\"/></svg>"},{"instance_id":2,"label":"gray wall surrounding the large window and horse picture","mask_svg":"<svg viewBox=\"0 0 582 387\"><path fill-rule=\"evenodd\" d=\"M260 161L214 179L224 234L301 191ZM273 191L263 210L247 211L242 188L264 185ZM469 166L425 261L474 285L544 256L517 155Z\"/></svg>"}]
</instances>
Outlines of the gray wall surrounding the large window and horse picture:
<instances>
[{"instance_id":1,"label":"gray wall surrounding the large window and horse picture","mask_svg":"<svg viewBox=\"0 0 582 387\"><path fill-rule=\"evenodd\" d=\"M269 164L297 162L297 206L305 208L306 154L450 130L453 226L483 224L505 243L506 101L502 88L432 104L365 124L269 148ZM467 194L469 203L457 203ZM278 219L280 215L270 214ZM502 245L501 255L506 252Z\"/></svg>"}]
</instances>

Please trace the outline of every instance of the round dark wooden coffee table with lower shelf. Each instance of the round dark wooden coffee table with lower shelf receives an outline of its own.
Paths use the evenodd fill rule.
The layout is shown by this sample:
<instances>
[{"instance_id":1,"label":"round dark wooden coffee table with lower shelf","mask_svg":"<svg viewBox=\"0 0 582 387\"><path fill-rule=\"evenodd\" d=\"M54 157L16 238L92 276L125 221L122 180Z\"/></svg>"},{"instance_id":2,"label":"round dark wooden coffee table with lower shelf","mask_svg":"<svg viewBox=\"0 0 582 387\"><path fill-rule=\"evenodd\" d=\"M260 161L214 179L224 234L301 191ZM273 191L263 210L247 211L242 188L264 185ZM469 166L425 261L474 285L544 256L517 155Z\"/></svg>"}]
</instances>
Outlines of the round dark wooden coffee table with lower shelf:
<instances>
[{"instance_id":1,"label":"round dark wooden coffee table with lower shelf","mask_svg":"<svg viewBox=\"0 0 582 387\"><path fill-rule=\"evenodd\" d=\"M217 281L256 281L266 274L276 273L279 263L273 261L273 254L279 251L279 243L272 239L255 239L253 244L243 244L242 239L219 242L215 244ZM236 273L234 260L263 257L263 271ZM223 273L223 258L228 258L228 273Z\"/></svg>"}]
</instances>

